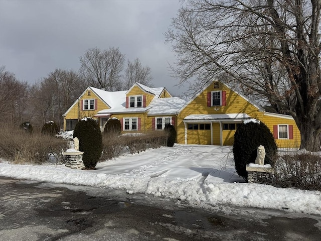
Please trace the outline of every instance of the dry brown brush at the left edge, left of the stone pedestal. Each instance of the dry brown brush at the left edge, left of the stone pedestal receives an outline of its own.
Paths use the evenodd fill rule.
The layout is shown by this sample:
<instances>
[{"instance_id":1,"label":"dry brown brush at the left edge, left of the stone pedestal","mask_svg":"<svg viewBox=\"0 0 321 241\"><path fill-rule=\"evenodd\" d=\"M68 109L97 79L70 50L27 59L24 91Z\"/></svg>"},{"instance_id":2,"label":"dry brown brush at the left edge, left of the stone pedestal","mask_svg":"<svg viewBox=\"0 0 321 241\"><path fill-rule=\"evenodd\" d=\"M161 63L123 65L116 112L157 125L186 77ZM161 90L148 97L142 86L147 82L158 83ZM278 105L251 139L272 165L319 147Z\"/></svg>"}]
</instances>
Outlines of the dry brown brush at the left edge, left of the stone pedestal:
<instances>
[{"instance_id":1,"label":"dry brown brush at the left edge, left of the stone pedestal","mask_svg":"<svg viewBox=\"0 0 321 241\"><path fill-rule=\"evenodd\" d=\"M62 161L62 151L68 149L68 145L66 140L35 130L30 134L4 124L0 129L0 157L15 164L41 164L48 154L54 154L56 159Z\"/></svg>"}]
</instances>

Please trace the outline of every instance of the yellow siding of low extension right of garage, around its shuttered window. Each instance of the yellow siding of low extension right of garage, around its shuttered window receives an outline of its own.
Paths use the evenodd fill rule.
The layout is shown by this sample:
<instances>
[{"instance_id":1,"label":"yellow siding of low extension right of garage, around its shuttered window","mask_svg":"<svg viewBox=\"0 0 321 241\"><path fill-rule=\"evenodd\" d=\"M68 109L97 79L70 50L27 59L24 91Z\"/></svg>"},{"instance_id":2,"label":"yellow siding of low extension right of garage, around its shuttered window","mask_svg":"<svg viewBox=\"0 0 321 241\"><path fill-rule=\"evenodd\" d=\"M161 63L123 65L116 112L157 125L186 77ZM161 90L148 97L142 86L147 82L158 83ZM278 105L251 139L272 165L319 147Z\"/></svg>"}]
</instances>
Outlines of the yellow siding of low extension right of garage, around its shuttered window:
<instances>
[{"instance_id":1,"label":"yellow siding of low extension right of garage, around its shuttered window","mask_svg":"<svg viewBox=\"0 0 321 241\"><path fill-rule=\"evenodd\" d=\"M264 115L263 123L271 130L273 134L273 126L277 125L291 125L293 126L293 139L289 140L275 140L279 148L299 148L301 143L300 131L297 128L294 119L281 118L276 116Z\"/></svg>"}]
</instances>

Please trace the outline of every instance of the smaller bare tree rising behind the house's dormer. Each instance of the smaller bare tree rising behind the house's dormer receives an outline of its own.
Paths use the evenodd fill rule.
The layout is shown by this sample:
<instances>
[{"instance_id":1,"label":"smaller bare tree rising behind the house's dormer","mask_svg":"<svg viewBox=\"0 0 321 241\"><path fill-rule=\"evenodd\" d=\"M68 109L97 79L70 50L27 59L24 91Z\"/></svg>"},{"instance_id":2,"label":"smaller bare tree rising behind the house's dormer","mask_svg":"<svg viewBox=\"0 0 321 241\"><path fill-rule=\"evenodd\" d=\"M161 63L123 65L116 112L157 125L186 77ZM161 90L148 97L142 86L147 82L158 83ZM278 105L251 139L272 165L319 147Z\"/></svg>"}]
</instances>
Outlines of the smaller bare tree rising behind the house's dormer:
<instances>
[{"instance_id":1,"label":"smaller bare tree rising behind the house's dormer","mask_svg":"<svg viewBox=\"0 0 321 241\"><path fill-rule=\"evenodd\" d=\"M136 82L152 87L151 80L150 68L148 66L143 67L138 58L134 62L127 61L124 89L129 89Z\"/></svg>"}]
</instances>

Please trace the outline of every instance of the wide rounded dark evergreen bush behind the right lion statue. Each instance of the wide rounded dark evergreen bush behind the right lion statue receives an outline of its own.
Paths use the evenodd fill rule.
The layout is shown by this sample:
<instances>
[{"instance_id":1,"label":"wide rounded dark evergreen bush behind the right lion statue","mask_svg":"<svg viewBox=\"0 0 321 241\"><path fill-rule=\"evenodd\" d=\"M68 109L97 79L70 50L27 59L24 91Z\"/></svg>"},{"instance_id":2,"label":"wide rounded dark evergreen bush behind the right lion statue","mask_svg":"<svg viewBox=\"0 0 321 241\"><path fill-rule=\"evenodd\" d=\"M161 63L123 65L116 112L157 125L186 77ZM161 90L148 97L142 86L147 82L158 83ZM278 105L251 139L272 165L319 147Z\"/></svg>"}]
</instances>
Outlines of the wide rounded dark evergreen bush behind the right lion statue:
<instances>
[{"instance_id":1,"label":"wide rounded dark evergreen bush behind the right lion statue","mask_svg":"<svg viewBox=\"0 0 321 241\"><path fill-rule=\"evenodd\" d=\"M277 147L270 129L263 123L240 124L234 135L233 154L235 169L239 176L247 181L246 165L255 163L257 148L265 148L264 164L274 165Z\"/></svg>"}]
</instances>

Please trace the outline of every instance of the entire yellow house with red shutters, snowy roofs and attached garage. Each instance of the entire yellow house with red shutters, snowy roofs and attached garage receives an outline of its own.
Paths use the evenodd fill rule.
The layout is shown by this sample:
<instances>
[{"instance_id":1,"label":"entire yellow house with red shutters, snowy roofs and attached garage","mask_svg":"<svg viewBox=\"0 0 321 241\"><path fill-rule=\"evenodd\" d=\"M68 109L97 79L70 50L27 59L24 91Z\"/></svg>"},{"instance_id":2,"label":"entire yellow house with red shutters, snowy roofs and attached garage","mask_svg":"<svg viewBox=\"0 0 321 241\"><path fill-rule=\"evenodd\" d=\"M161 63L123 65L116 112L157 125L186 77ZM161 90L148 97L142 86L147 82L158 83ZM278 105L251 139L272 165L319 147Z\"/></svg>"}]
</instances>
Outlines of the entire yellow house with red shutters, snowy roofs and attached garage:
<instances>
[{"instance_id":1,"label":"entire yellow house with red shutters, snowy roofs and attached garage","mask_svg":"<svg viewBox=\"0 0 321 241\"><path fill-rule=\"evenodd\" d=\"M202 145L233 145L238 124L257 119L271 130L278 147L300 145L300 132L291 116L267 112L219 81L209 83L189 101L172 97L164 87L139 83L116 92L88 87L66 111L64 130L73 130L85 116L97 118L102 131L110 118L117 118L122 133L163 130L172 124L177 143Z\"/></svg>"}]
</instances>

